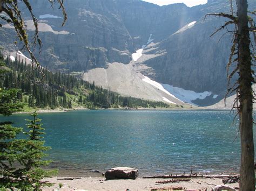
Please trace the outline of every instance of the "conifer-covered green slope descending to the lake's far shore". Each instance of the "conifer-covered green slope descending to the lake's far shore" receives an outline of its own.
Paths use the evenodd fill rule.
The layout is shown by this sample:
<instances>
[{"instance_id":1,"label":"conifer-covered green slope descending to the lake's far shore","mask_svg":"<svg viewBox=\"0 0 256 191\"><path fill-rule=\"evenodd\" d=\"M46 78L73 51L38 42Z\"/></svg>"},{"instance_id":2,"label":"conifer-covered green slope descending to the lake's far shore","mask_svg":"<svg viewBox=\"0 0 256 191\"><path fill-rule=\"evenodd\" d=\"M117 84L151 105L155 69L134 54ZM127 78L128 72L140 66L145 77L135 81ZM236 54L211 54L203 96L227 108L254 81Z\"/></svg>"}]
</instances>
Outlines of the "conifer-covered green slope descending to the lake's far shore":
<instances>
[{"instance_id":1,"label":"conifer-covered green slope descending to the lake's far shore","mask_svg":"<svg viewBox=\"0 0 256 191\"><path fill-rule=\"evenodd\" d=\"M6 65L12 69L0 79L3 89L18 88L26 97L24 102L30 108L67 108L85 107L95 108L168 108L169 104L120 96L110 89L103 89L95 83L86 82L73 75L52 73L43 69L46 75L41 81L41 73L34 70L31 74L31 65L12 62L6 59ZM12 80L11 80L12 79ZM10 81L11 80L11 81ZM38 86L38 83L40 85ZM22 95L21 94L21 95Z\"/></svg>"}]
</instances>

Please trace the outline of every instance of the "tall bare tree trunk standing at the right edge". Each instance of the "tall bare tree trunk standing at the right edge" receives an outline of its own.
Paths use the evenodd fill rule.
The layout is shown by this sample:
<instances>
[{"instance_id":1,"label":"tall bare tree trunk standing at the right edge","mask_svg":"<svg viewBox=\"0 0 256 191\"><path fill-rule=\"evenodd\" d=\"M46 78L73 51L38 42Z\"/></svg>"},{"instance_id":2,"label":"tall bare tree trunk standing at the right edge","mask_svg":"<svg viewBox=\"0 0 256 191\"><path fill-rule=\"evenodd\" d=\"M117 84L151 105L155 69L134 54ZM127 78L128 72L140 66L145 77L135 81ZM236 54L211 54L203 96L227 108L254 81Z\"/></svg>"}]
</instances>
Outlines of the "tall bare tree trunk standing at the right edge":
<instances>
[{"instance_id":1,"label":"tall bare tree trunk standing at the right edge","mask_svg":"<svg viewBox=\"0 0 256 191\"><path fill-rule=\"evenodd\" d=\"M252 69L250 52L250 33L247 17L247 0L237 0L238 8L238 64L239 101L241 134L240 190L254 190L254 145L252 117Z\"/></svg>"}]
</instances>

